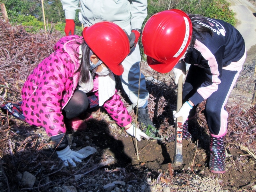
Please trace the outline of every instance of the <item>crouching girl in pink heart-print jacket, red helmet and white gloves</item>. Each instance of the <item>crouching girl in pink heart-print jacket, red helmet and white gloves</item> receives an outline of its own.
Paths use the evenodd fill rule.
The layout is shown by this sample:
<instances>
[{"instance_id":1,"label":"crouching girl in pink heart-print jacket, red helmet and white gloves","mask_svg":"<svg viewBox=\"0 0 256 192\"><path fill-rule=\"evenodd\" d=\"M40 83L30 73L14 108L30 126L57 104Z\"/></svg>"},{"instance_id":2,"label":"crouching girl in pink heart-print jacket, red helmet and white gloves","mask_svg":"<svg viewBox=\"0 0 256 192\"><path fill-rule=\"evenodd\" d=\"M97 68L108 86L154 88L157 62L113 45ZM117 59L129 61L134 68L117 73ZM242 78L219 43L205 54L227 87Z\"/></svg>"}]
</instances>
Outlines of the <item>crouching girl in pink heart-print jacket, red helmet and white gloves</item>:
<instances>
[{"instance_id":1,"label":"crouching girl in pink heart-print jacket, red helmet and white gloves","mask_svg":"<svg viewBox=\"0 0 256 192\"><path fill-rule=\"evenodd\" d=\"M73 160L80 162L83 158L68 146L64 119L77 124L77 116L89 106L89 96L94 96L94 104L103 106L117 125L135 136L136 128L117 94L113 75L123 73L121 63L130 52L125 32L112 22L102 21L84 28L83 37L61 38L54 50L28 76L21 109L29 124L44 127L56 142L56 152L64 164L76 166ZM80 127L84 125L81 121ZM148 138L136 129L139 141L140 136Z\"/></svg>"}]
</instances>

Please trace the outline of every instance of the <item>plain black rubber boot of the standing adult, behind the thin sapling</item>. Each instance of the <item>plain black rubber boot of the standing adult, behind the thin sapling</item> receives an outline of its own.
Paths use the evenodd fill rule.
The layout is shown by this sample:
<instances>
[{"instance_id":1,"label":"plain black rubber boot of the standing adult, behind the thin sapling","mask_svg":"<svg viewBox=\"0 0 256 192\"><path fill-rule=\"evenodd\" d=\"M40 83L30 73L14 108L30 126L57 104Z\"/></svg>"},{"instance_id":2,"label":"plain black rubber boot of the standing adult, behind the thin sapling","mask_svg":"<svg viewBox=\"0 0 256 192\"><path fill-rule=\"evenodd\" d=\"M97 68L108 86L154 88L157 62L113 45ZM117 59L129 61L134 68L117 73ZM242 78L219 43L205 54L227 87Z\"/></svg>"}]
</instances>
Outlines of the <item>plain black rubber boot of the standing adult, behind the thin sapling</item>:
<instances>
[{"instance_id":1,"label":"plain black rubber boot of the standing adult, behind the thin sapling","mask_svg":"<svg viewBox=\"0 0 256 192\"><path fill-rule=\"evenodd\" d=\"M148 115L148 106L146 106L145 109L143 109L142 107L138 108L137 121L140 123L140 129L144 133L146 133L147 129L149 129L149 131L153 133L155 137L157 136L156 127L154 126L153 122L151 121Z\"/></svg>"}]
</instances>

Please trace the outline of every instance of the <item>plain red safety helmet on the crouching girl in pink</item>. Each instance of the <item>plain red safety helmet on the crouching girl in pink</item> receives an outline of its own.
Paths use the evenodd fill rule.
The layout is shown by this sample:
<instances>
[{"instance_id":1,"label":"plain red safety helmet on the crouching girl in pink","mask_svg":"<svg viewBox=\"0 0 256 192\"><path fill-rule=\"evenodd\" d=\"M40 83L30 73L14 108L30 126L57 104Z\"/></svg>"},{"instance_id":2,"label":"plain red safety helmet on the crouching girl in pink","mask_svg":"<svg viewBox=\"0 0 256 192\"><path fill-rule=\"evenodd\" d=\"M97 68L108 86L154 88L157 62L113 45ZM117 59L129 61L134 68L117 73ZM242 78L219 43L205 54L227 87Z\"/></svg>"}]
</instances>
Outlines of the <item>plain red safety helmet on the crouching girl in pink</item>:
<instances>
[{"instance_id":1,"label":"plain red safety helmet on the crouching girl in pink","mask_svg":"<svg viewBox=\"0 0 256 192\"><path fill-rule=\"evenodd\" d=\"M130 43L124 30L110 21L95 23L83 30L87 45L116 75L122 75L121 64L130 53Z\"/></svg>"}]
</instances>

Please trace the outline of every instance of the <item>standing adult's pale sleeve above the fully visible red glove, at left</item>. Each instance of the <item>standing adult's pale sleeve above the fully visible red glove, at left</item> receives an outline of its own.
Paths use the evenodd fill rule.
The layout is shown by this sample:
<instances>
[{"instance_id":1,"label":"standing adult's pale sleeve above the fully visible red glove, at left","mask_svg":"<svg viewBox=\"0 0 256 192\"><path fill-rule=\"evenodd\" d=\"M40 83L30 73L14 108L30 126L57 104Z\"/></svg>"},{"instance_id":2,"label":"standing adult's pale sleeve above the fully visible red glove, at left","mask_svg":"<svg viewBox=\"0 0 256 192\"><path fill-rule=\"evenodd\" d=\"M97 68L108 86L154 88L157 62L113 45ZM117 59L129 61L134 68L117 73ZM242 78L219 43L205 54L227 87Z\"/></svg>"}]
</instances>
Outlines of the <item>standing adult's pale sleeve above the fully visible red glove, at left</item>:
<instances>
[{"instance_id":1,"label":"standing adult's pale sleeve above the fully visible red glove, at left","mask_svg":"<svg viewBox=\"0 0 256 192\"><path fill-rule=\"evenodd\" d=\"M65 11L66 19L76 18L76 9L79 5L79 0L60 0L62 3L63 10Z\"/></svg>"}]
</instances>

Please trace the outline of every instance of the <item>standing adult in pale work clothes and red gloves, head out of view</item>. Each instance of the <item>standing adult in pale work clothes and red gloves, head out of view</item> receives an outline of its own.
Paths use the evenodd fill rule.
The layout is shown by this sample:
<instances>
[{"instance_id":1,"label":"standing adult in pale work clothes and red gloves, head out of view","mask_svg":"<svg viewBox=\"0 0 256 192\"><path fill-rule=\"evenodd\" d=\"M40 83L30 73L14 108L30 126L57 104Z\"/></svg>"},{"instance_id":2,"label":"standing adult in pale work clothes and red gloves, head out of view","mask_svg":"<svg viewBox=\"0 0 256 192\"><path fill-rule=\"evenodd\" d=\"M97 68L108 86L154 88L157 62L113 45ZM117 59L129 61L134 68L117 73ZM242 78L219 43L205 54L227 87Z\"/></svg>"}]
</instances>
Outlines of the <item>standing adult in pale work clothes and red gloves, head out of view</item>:
<instances>
[{"instance_id":1,"label":"standing adult in pale work clothes and red gloves, head out of view","mask_svg":"<svg viewBox=\"0 0 256 192\"><path fill-rule=\"evenodd\" d=\"M148 127L155 128L148 115L149 94L145 76L143 74L140 76L141 56L139 45L137 45L142 32L142 23L148 15L147 0L61 0L66 17L66 35L74 34L74 19L79 2L82 13L79 20L84 27L100 21L112 21L127 32L131 52L122 63L124 66L124 73L120 76L122 85L133 106L138 106L137 120L141 129L145 131Z\"/></svg>"}]
</instances>

